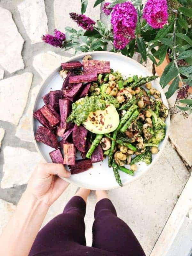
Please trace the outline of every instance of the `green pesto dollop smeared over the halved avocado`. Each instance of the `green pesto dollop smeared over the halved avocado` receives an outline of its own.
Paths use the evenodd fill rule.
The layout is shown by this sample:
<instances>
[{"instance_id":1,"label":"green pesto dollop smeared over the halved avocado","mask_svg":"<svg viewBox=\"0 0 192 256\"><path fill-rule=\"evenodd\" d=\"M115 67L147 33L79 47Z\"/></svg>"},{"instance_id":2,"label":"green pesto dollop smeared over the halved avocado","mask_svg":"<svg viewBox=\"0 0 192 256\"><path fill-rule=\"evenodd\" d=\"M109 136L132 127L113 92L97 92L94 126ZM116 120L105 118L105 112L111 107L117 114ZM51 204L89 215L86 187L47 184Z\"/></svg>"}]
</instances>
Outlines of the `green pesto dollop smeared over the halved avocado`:
<instances>
[{"instance_id":1,"label":"green pesto dollop smeared over the halved avocado","mask_svg":"<svg viewBox=\"0 0 192 256\"><path fill-rule=\"evenodd\" d=\"M89 113L104 110L105 108L106 102L97 96L82 98L72 104L72 112L67 118L67 122L72 121L76 125L80 125L87 119Z\"/></svg>"}]
</instances>

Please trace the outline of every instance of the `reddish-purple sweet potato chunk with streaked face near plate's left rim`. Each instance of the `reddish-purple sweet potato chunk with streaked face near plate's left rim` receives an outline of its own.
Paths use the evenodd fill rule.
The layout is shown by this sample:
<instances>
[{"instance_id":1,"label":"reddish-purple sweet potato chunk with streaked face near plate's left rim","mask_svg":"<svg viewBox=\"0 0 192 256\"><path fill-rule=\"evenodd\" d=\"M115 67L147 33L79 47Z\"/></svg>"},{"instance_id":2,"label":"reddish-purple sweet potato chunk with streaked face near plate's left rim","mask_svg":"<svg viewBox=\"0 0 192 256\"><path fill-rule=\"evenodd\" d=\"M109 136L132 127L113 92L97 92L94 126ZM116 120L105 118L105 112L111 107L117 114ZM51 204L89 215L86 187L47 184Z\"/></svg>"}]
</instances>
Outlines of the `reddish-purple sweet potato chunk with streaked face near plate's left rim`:
<instances>
[{"instance_id":1,"label":"reddish-purple sweet potato chunk with streaked face near plate's left rim","mask_svg":"<svg viewBox=\"0 0 192 256\"><path fill-rule=\"evenodd\" d=\"M60 116L56 110L52 108L51 105L44 105L42 108L40 108L40 111L44 117L52 124L52 126L59 124Z\"/></svg>"}]
</instances>

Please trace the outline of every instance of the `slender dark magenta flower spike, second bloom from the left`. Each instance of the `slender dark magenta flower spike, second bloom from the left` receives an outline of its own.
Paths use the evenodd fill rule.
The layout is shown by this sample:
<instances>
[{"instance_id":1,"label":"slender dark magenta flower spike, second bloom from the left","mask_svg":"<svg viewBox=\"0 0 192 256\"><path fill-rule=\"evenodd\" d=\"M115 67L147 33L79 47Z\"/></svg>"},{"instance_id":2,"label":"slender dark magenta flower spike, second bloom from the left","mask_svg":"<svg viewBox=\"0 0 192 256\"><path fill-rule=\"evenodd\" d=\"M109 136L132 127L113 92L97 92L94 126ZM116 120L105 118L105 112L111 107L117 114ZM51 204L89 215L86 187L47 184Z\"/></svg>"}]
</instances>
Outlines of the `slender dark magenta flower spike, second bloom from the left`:
<instances>
[{"instance_id":1,"label":"slender dark magenta flower spike, second bloom from the left","mask_svg":"<svg viewBox=\"0 0 192 256\"><path fill-rule=\"evenodd\" d=\"M77 14L76 12L69 13L69 16L77 23L79 27L82 27L86 30L93 30L93 25L95 25L95 21L90 19L89 17L83 14Z\"/></svg>"}]
</instances>

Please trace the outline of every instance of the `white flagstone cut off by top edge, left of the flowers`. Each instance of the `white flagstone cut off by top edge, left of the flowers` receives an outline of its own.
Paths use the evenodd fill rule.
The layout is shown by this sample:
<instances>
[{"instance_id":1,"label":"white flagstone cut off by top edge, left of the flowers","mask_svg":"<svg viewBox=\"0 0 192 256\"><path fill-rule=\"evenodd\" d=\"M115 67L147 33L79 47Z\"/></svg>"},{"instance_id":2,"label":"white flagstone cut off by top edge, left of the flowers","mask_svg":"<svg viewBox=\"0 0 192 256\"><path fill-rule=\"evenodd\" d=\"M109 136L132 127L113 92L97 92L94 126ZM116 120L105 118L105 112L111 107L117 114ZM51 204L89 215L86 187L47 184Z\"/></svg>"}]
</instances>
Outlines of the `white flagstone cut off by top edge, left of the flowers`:
<instances>
[{"instance_id":1,"label":"white flagstone cut off by top edge, left of the flowers","mask_svg":"<svg viewBox=\"0 0 192 256\"><path fill-rule=\"evenodd\" d=\"M18 10L31 43L41 42L42 35L48 32L44 0L24 0L18 5Z\"/></svg>"}]
</instances>

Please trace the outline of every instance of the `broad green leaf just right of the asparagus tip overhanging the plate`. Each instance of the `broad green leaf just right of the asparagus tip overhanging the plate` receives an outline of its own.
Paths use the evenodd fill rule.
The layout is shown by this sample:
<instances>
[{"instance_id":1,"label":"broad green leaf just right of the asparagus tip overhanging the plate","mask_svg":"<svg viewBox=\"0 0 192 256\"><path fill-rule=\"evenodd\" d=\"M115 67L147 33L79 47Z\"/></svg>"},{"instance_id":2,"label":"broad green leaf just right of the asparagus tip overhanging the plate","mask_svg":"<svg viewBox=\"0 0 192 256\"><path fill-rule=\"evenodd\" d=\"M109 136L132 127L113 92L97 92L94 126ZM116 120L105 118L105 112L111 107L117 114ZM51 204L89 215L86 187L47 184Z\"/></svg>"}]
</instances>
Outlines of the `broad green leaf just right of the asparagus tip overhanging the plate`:
<instances>
[{"instance_id":1,"label":"broad green leaf just right of the asparagus tip overhanging the plate","mask_svg":"<svg viewBox=\"0 0 192 256\"><path fill-rule=\"evenodd\" d=\"M174 62L170 62L160 78L160 85L164 88L175 76L179 74L179 70L175 67Z\"/></svg>"}]
</instances>

